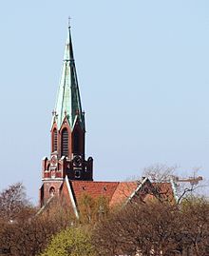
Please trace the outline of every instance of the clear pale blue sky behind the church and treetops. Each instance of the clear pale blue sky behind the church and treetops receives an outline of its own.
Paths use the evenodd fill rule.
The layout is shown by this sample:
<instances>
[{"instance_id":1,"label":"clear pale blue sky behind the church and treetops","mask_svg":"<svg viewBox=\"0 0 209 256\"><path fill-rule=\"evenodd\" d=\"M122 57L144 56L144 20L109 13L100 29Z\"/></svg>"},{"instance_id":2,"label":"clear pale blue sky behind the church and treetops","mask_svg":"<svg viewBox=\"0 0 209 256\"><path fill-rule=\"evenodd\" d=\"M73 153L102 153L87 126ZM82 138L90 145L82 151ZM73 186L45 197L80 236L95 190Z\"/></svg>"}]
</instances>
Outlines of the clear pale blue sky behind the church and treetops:
<instances>
[{"instance_id":1,"label":"clear pale blue sky behind the church and treetops","mask_svg":"<svg viewBox=\"0 0 209 256\"><path fill-rule=\"evenodd\" d=\"M208 1L19 0L0 4L0 189L38 200L68 15L95 180L209 178Z\"/></svg>"}]
</instances>

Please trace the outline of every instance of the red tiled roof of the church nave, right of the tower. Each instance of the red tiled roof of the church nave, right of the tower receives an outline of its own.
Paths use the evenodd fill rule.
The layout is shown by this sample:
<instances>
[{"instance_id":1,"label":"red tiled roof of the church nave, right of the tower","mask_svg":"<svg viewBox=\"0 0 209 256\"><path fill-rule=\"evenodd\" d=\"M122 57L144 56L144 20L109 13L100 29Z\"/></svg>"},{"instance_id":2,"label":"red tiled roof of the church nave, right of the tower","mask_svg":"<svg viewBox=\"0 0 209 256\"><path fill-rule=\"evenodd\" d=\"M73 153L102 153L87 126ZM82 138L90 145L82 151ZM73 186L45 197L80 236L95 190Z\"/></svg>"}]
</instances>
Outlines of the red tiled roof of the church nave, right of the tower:
<instances>
[{"instance_id":1,"label":"red tiled roof of the church nave, right of the tower","mask_svg":"<svg viewBox=\"0 0 209 256\"><path fill-rule=\"evenodd\" d=\"M147 182L147 181L146 181ZM153 188L157 188L157 191L161 194L161 198L174 199L173 190L170 183L155 184L150 183L151 187L141 184L142 187L137 191L140 186L139 182L94 182L94 181L69 181L74 200L79 204L80 199L84 194L89 195L92 198L98 198L104 196L109 206L117 206L125 203L130 197L139 196L142 200L149 201L155 198L155 191ZM148 188L148 189L147 189ZM151 190L150 190L151 189ZM153 192L153 193L152 193ZM64 192L65 193L65 192ZM135 194L136 193L136 194Z\"/></svg>"}]
</instances>

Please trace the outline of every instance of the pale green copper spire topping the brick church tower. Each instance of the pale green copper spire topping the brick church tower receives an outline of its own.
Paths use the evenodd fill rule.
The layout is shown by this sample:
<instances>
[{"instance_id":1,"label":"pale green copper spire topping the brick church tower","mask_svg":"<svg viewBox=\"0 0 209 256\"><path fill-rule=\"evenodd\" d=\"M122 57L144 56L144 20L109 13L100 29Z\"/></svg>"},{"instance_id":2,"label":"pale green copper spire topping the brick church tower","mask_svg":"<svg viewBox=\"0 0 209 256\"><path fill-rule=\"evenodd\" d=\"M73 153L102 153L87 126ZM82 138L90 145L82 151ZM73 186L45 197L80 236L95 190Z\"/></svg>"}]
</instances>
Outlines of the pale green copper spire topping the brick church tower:
<instances>
[{"instance_id":1,"label":"pale green copper spire topping the brick church tower","mask_svg":"<svg viewBox=\"0 0 209 256\"><path fill-rule=\"evenodd\" d=\"M82 128L85 129L85 115L82 111L70 26L68 26L67 30L63 68L52 123L55 120L58 129L60 129L65 117L69 122L70 128L73 129L75 120L78 117Z\"/></svg>"}]
</instances>

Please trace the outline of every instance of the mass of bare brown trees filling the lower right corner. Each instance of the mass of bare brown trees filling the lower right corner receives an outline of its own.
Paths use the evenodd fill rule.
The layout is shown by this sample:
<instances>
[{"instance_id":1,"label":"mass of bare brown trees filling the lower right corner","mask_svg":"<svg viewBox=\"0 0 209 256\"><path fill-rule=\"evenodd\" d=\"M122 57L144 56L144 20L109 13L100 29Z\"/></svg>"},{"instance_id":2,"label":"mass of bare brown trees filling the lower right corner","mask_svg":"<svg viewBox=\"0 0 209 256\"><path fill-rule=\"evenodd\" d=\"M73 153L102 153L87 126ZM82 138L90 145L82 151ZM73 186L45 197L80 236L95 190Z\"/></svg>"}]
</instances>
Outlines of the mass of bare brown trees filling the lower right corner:
<instances>
[{"instance_id":1,"label":"mass of bare brown trees filling the lower right corner","mask_svg":"<svg viewBox=\"0 0 209 256\"><path fill-rule=\"evenodd\" d=\"M131 202L97 224L97 255L209 255L209 202L191 198L179 207L167 201ZM178 253L178 254L175 254Z\"/></svg>"}]
</instances>

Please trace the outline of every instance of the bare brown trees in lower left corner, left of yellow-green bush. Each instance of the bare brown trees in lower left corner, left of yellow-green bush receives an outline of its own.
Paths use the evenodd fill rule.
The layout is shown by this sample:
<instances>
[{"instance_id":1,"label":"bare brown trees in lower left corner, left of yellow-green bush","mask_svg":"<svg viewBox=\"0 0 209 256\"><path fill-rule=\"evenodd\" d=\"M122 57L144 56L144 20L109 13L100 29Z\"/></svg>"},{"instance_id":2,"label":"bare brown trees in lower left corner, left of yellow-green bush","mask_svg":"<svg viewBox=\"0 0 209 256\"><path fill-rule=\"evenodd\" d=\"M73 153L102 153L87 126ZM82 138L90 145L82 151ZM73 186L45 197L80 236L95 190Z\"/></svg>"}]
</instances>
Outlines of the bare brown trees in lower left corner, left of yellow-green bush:
<instances>
[{"instance_id":1,"label":"bare brown trees in lower left corner, left of yellow-green bush","mask_svg":"<svg viewBox=\"0 0 209 256\"><path fill-rule=\"evenodd\" d=\"M52 235L74 222L74 214L70 208L56 198L53 198L51 204L41 214L37 215L35 212L37 209L30 214L23 207L18 210L18 218L13 219L14 221L8 221L10 218L1 219L0 248L9 251L10 256L40 254Z\"/></svg>"}]
</instances>

